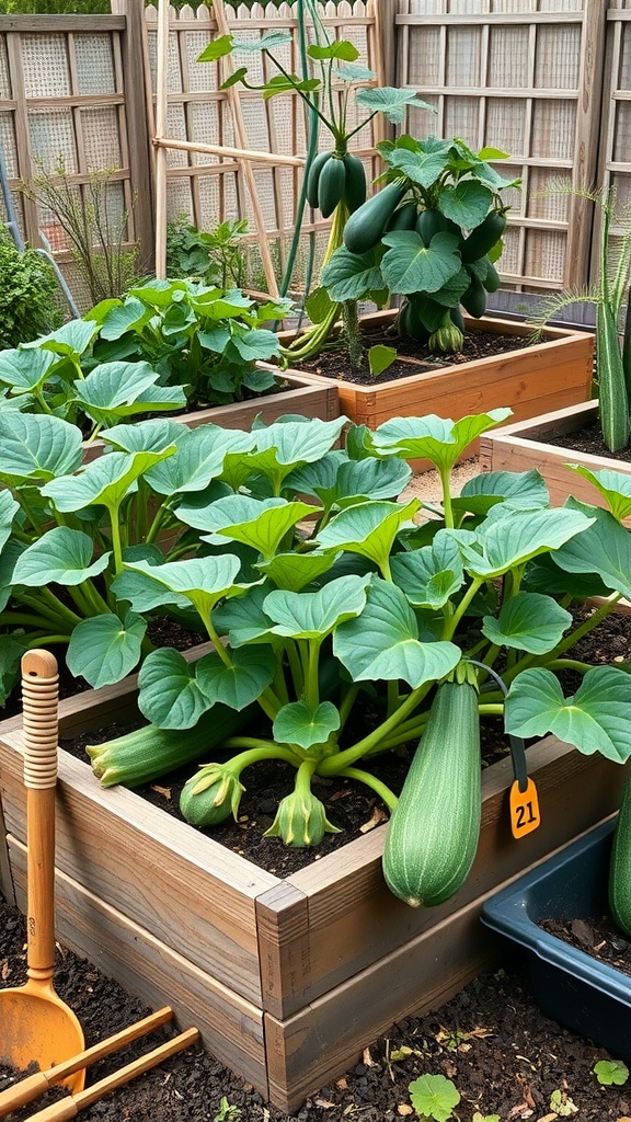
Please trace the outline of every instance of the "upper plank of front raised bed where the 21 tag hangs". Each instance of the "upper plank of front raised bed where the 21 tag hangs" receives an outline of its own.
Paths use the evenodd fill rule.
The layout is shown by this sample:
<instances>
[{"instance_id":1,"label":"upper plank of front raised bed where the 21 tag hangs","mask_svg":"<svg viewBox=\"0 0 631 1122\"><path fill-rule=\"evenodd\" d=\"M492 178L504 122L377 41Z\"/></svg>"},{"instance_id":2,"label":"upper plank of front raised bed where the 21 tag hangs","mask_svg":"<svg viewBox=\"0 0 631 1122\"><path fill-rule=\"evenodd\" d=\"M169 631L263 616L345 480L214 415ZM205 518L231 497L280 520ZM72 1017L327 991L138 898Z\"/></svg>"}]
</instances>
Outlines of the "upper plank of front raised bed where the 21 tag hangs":
<instances>
[{"instance_id":1,"label":"upper plank of front raised bed where the 21 tag hangs","mask_svg":"<svg viewBox=\"0 0 631 1122\"><path fill-rule=\"evenodd\" d=\"M476 859L458 895L439 908L415 911L387 891L381 867L385 826L287 879L285 884L307 899L309 927L307 942L300 926L292 946L291 923L283 926L286 918L282 914L277 919L284 935L277 968L284 973L276 982L274 999L283 1018L618 809L627 769L598 755L583 756L556 737L532 745L528 761L538 785L541 828L520 842L513 839L507 809L511 761L486 769ZM589 790L588 800L582 794L585 790ZM282 911L282 896L280 904L273 894L266 902ZM266 1008L274 1012L271 1005Z\"/></svg>"}]
</instances>

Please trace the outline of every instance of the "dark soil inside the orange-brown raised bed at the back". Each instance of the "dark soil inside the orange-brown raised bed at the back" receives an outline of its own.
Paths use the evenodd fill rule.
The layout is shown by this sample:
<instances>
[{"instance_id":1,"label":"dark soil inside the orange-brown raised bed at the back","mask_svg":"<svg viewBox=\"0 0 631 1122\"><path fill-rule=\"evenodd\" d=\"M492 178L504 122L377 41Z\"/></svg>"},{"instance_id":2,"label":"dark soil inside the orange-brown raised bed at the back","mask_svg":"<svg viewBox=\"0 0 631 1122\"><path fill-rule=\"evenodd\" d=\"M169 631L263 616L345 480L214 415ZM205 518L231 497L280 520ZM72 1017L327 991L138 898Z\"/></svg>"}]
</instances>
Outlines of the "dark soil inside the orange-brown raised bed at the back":
<instances>
[{"instance_id":1,"label":"dark soil inside the orange-brown raised bed at the back","mask_svg":"<svg viewBox=\"0 0 631 1122\"><path fill-rule=\"evenodd\" d=\"M381 343L386 347L394 347L401 358L413 359L413 362L400 362L397 359L388 366L387 370L375 377L371 374L368 361L365 359L359 369L350 366L348 352L342 341L328 343L313 359L302 362L291 361L291 366L296 370L307 370L310 374L320 374L326 378L353 381L362 386L379 386L384 381L396 380L397 378L409 378L414 374L422 374L428 370L438 370L445 366L455 366L461 362L472 362L481 358L490 358L499 352L497 335L492 331L469 331L465 335L463 349L457 353L438 353L431 351L424 343L412 339L401 339L396 331L365 331L363 337L364 347L375 347ZM521 350L528 347L528 338L523 335L502 335L502 351Z\"/></svg>"}]
</instances>

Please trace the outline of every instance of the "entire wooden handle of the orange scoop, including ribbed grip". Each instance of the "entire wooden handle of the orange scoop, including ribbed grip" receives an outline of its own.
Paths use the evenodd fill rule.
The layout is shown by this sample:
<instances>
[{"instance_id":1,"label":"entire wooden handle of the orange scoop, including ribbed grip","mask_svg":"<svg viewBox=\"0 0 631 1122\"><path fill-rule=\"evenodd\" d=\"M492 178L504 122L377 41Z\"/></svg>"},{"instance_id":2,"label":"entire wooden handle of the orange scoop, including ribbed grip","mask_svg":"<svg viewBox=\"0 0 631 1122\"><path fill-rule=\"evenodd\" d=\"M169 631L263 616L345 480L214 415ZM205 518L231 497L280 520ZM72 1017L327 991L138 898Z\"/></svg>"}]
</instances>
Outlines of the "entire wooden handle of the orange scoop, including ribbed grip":
<instances>
[{"instance_id":1,"label":"entire wooden handle of the orange scoop, including ribbed grip","mask_svg":"<svg viewBox=\"0 0 631 1122\"><path fill-rule=\"evenodd\" d=\"M57 782L58 674L48 651L21 660L24 783L28 880L28 976L46 982L55 963L55 785Z\"/></svg>"}]
</instances>

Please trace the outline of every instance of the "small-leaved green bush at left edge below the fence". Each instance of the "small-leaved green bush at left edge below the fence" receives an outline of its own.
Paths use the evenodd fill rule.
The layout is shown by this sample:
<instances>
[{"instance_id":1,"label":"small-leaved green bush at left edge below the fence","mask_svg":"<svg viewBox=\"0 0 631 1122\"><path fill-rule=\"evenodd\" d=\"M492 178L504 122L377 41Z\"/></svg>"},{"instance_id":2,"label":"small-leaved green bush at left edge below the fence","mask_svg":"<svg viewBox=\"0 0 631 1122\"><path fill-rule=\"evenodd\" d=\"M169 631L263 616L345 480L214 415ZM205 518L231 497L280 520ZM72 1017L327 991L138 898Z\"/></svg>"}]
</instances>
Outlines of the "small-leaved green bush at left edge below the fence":
<instances>
[{"instance_id":1,"label":"small-leaved green bush at left edge below the fence","mask_svg":"<svg viewBox=\"0 0 631 1122\"><path fill-rule=\"evenodd\" d=\"M0 350L58 327L57 279L35 249L22 252L0 224Z\"/></svg>"}]
</instances>

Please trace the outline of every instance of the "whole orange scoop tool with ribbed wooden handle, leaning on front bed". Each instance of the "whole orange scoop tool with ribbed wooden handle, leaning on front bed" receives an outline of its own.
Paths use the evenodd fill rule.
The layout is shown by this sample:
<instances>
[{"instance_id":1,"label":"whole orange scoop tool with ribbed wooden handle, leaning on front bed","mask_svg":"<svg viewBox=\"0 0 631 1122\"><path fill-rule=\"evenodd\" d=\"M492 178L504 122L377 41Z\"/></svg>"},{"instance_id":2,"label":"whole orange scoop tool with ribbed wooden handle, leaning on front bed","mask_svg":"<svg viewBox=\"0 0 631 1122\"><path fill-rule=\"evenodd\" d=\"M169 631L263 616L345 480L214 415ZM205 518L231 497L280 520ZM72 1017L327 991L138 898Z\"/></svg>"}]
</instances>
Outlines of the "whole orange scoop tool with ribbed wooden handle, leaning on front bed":
<instances>
[{"instance_id":1,"label":"whole orange scoop tool with ribbed wooden handle, leaning on front bed","mask_svg":"<svg viewBox=\"0 0 631 1122\"><path fill-rule=\"evenodd\" d=\"M0 991L0 1057L19 1070L40 1070L83 1051L83 1030L53 987L55 963L55 787L58 674L54 655L28 651L21 661L24 783L27 819L27 974ZM81 1091L81 1068L64 1082Z\"/></svg>"}]
</instances>

